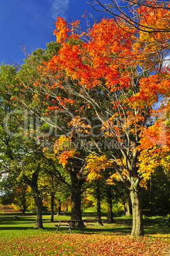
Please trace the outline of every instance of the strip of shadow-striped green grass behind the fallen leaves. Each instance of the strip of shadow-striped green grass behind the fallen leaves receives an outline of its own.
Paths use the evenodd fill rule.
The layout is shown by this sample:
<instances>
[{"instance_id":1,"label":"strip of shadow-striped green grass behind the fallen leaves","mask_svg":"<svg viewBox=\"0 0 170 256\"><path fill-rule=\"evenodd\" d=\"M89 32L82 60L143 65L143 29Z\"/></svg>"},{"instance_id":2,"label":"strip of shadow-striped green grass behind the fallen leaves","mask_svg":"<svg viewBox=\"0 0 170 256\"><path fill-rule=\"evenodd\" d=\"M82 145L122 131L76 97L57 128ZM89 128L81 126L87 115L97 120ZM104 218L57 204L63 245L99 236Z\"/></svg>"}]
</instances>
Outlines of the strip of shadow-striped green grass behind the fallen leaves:
<instances>
[{"instance_id":1,"label":"strip of shadow-striped green grass behind the fallen leaves","mask_svg":"<svg viewBox=\"0 0 170 256\"><path fill-rule=\"evenodd\" d=\"M18 234L24 234L25 232L55 232L55 223L50 222L50 215L43 215L43 226L44 230L39 231L34 229L34 225L36 222L36 216L35 215L17 215L17 219L13 219L15 215L7 215L5 213L0 213L0 234L1 233L16 233ZM84 213L83 218L95 218L93 213ZM60 215L54 217L54 222L57 222L59 220L67 220L70 219L67 215ZM103 216L103 226L96 225L95 223L90 223L87 225L85 229L85 233L108 233L111 234L112 232L117 232L117 235L119 234L131 234L132 229L132 217L116 217L114 224L107 224L106 223L106 217ZM169 234L169 225L166 222L164 217L150 217L144 219L144 228L145 228L145 234ZM59 232L67 232L65 228L60 228ZM81 232L78 230L75 230L73 232Z\"/></svg>"}]
</instances>

